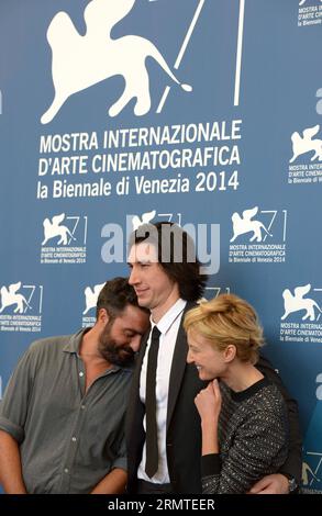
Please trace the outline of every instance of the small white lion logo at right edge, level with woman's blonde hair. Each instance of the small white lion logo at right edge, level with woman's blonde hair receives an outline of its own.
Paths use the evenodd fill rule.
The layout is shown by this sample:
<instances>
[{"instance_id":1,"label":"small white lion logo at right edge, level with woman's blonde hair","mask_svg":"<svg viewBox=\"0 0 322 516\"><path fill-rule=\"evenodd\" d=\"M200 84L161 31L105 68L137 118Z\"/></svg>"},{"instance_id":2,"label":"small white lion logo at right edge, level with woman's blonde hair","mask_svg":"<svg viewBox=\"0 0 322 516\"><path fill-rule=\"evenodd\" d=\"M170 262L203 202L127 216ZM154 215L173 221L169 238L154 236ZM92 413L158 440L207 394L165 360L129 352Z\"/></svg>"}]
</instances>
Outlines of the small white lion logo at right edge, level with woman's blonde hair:
<instances>
[{"instance_id":1,"label":"small white lion logo at right edge, level with woman's blonde hair","mask_svg":"<svg viewBox=\"0 0 322 516\"><path fill-rule=\"evenodd\" d=\"M317 301L321 295L322 289L312 289L311 283L282 291L280 340L322 343L322 324L319 323L322 311Z\"/></svg>"}]
</instances>

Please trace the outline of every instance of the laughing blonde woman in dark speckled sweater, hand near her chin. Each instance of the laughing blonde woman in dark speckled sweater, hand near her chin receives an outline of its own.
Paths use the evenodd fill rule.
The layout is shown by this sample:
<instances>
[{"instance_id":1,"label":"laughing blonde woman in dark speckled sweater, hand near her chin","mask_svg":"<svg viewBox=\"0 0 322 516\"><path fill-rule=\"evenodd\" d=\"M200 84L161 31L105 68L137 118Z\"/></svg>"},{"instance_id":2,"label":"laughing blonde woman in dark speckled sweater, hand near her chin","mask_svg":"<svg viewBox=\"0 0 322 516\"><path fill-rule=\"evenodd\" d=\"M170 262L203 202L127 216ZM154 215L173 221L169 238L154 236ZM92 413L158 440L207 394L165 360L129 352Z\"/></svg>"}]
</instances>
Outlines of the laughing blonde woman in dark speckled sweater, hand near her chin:
<instances>
[{"instance_id":1,"label":"laughing blonde woman in dark speckled sweater, hand near her chin","mask_svg":"<svg viewBox=\"0 0 322 516\"><path fill-rule=\"evenodd\" d=\"M281 393L254 366L263 330L254 309L233 294L190 310L188 363L210 380L195 404L201 419L203 493L247 493L277 473L288 455Z\"/></svg>"}]
</instances>

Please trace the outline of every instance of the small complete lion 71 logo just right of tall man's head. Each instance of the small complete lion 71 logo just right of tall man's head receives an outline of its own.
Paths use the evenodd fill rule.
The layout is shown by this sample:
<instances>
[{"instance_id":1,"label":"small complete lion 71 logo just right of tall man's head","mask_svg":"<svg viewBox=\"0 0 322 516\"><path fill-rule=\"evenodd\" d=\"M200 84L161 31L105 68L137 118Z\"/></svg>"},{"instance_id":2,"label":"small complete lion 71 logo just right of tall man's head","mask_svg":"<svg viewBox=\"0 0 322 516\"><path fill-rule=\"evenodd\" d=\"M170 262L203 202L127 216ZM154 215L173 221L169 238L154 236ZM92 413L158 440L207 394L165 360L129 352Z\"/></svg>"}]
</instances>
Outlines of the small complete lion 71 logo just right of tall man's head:
<instances>
[{"instance_id":1,"label":"small complete lion 71 logo just right of tall man's head","mask_svg":"<svg viewBox=\"0 0 322 516\"><path fill-rule=\"evenodd\" d=\"M230 262L285 262L287 210L234 212L231 216Z\"/></svg>"}]
</instances>

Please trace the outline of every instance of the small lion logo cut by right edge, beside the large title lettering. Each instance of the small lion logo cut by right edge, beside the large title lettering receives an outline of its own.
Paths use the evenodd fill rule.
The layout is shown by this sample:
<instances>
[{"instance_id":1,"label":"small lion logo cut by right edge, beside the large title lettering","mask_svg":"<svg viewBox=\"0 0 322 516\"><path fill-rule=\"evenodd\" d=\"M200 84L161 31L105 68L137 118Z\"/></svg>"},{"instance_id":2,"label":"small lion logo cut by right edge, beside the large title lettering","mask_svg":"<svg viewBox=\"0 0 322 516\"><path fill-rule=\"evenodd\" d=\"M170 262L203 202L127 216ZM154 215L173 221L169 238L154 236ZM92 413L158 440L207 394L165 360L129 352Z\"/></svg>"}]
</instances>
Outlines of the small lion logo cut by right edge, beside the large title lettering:
<instances>
[{"instance_id":1,"label":"small lion logo cut by right edge, beside the large title lettering","mask_svg":"<svg viewBox=\"0 0 322 516\"><path fill-rule=\"evenodd\" d=\"M297 131L292 133L289 184L322 181L322 139L317 137L319 132L320 125L317 124L313 127L304 128L302 134Z\"/></svg>"}]
</instances>

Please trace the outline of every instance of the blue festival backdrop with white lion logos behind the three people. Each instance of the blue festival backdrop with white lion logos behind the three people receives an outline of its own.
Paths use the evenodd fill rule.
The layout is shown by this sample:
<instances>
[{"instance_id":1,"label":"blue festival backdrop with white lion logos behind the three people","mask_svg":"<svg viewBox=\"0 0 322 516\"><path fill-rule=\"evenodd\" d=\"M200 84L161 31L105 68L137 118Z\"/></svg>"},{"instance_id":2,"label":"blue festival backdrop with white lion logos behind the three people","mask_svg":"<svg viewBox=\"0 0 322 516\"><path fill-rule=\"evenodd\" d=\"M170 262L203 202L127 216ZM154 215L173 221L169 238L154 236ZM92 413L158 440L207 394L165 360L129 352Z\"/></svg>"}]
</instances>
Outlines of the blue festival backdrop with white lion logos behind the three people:
<instances>
[{"instance_id":1,"label":"blue festival backdrop with white lion logos behind the three people","mask_svg":"<svg viewBox=\"0 0 322 516\"><path fill-rule=\"evenodd\" d=\"M1 1L0 399L173 221L206 296L256 307L322 493L321 25L321 0Z\"/></svg>"}]
</instances>

